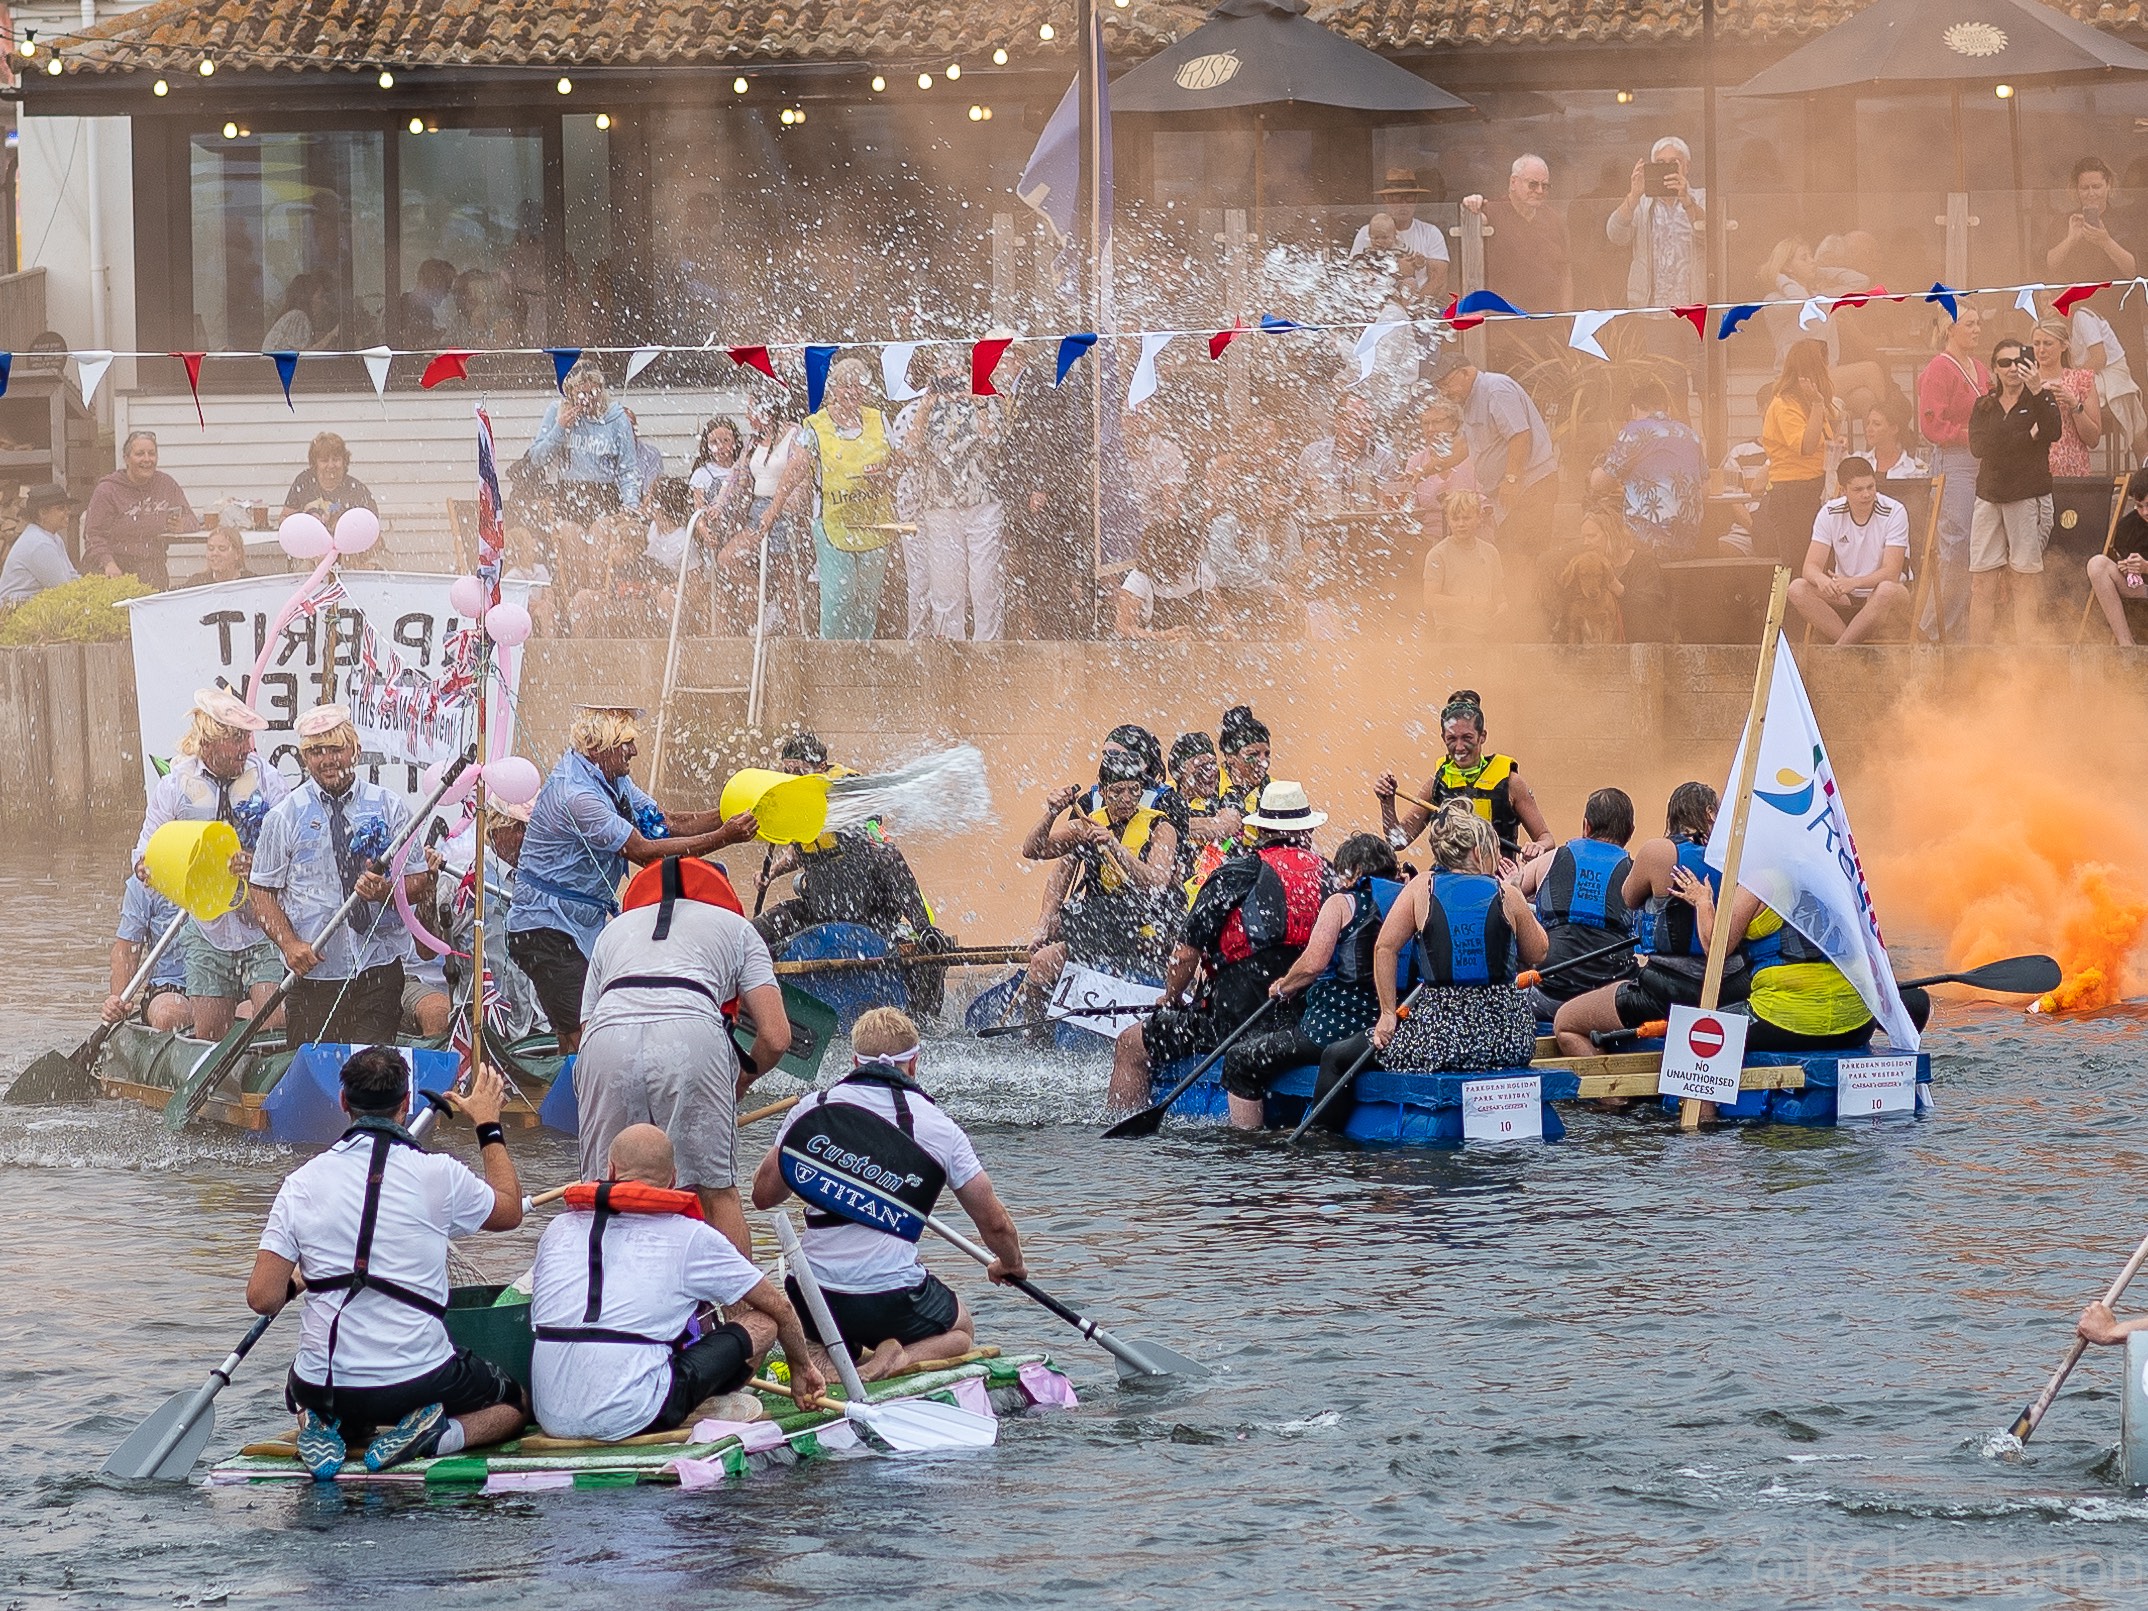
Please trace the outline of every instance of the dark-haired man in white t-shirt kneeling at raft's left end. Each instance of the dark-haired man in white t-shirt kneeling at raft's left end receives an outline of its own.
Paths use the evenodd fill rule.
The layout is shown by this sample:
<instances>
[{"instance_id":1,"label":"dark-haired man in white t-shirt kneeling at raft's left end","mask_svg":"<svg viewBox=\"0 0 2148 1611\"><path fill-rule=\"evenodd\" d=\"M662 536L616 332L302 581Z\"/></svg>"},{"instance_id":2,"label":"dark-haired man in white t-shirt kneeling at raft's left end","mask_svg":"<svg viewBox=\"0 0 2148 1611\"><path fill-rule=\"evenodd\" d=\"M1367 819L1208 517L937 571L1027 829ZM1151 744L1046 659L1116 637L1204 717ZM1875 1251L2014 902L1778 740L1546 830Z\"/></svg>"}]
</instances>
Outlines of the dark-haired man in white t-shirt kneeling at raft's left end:
<instances>
[{"instance_id":1,"label":"dark-haired man in white t-shirt kneeling at raft's left end","mask_svg":"<svg viewBox=\"0 0 2148 1611\"><path fill-rule=\"evenodd\" d=\"M299 1458L320 1482L350 1443L365 1443L365 1469L380 1471L498 1443L522 1431L526 1409L522 1388L458 1349L440 1319L449 1239L522 1224L500 1076L479 1065L466 1095L442 1098L477 1126L483 1179L404 1128L410 1065L397 1050L357 1053L342 1083L350 1130L284 1179L247 1278L256 1315L305 1291L284 1403L299 1413Z\"/></svg>"}]
</instances>

